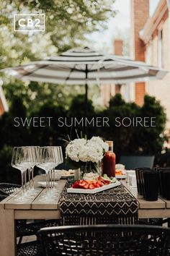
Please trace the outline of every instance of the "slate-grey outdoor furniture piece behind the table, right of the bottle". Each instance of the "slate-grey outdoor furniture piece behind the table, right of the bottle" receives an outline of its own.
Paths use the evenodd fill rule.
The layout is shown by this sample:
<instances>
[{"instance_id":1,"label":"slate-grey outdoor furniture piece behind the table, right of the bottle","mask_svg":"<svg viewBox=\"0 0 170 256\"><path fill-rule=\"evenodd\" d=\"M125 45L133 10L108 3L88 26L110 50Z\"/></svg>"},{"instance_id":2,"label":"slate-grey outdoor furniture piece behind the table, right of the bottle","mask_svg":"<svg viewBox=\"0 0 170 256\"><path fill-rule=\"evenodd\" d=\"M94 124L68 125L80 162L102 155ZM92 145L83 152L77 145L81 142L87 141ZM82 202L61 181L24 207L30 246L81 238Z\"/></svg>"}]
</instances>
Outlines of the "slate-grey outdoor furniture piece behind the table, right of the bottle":
<instances>
[{"instance_id":1,"label":"slate-grey outdoor furniture piece behind the table, right of the bottle","mask_svg":"<svg viewBox=\"0 0 170 256\"><path fill-rule=\"evenodd\" d=\"M153 168L154 158L154 155L121 155L120 163L124 164L127 170L140 167Z\"/></svg>"}]
</instances>

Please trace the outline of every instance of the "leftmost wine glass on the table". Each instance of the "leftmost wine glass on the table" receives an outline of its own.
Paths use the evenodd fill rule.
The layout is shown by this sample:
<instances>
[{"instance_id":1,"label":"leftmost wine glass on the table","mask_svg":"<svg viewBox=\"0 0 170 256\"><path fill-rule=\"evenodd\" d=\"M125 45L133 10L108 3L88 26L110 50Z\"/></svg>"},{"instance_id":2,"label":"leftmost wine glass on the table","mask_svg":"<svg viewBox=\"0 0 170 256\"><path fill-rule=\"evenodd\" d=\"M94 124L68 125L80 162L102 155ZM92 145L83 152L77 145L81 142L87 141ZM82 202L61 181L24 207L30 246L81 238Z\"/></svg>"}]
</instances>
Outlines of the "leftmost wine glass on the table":
<instances>
[{"instance_id":1,"label":"leftmost wine glass on the table","mask_svg":"<svg viewBox=\"0 0 170 256\"><path fill-rule=\"evenodd\" d=\"M22 178L22 196L17 197L17 200L25 200L27 185L26 176L27 168L31 166L30 149L27 147L14 147L12 152L12 167L17 168L21 172Z\"/></svg>"}]
</instances>

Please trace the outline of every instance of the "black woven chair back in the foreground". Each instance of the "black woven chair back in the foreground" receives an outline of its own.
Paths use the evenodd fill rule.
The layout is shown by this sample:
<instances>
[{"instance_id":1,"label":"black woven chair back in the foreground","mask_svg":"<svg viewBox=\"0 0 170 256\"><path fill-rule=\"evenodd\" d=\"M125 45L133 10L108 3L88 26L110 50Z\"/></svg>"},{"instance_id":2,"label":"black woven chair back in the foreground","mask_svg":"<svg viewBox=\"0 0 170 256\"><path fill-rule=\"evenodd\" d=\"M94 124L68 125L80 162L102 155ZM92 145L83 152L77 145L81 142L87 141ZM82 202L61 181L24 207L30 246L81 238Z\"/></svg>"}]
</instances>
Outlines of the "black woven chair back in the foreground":
<instances>
[{"instance_id":1,"label":"black woven chair back in the foreground","mask_svg":"<svg viewBox=\"0 0 170 256\"><path fill-rule=\"evenodd\" d=\"M159 226L62 226L37 232L43 256L167 256L170 229Z\"/></svg>"}]
</instances>

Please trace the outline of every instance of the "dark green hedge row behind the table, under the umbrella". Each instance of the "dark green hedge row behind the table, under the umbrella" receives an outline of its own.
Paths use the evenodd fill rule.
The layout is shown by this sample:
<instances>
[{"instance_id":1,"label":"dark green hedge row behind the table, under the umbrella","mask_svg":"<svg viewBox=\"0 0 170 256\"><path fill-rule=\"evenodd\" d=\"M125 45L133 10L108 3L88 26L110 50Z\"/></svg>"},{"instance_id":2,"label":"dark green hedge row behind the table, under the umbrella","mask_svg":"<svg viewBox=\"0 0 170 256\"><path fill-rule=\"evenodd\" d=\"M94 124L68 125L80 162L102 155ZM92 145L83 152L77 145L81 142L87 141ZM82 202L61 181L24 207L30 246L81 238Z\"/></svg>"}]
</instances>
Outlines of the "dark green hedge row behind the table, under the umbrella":
<instances>
[{"instance_id":1,"label":"dark green hedge row behind the table, under the umbrella","mask_svg":"<svg viewBox=\"0 0 170 256\"><path fill-rule=\"evenodd\" d=\"M77 119L85 115L84 95L78 95L73 98L70 108L66 109L63 105L56 105L50 98L37 110L32 112L32 116L52 116L50 127L14 127L14 117L27 116L27 108L22 103L22 99L17 96L8 113L1 116L0 119L0 161L3 166L0 166L0 171L4 174L4 168L9 168L13 146L19 145L63 145L66 136L69 135L71 140L77 137L75 129L79 135L88 134L88 137L93 135L101 136L107 140L114 141L114 151L117 155L117 161L122 154L153 154L161 152L166 137L164 129L166 124L166 114L164 108L155 98L146 95L145 102L142 107L135 103L126 103L121 95L115 95L110 102L109 107L104 111L94 110L92 102L88 101L88 118L102 116L109 118L109 127L89 127L83 130L82 127L58 127L58 117L76 117ZM120 117L123 119L129 117L156 117L156 127L125 127L121 125L117 127L115 119ZM8 150L9 147L9 150ZM10 158L10 159L9 159ZM2 161L4 159L4 161ZM69 163L71 164L71 163ZM74 166L79 168L79 166ZM9 168L10 169L10 168Z\"/></svg>"}]
</instances>

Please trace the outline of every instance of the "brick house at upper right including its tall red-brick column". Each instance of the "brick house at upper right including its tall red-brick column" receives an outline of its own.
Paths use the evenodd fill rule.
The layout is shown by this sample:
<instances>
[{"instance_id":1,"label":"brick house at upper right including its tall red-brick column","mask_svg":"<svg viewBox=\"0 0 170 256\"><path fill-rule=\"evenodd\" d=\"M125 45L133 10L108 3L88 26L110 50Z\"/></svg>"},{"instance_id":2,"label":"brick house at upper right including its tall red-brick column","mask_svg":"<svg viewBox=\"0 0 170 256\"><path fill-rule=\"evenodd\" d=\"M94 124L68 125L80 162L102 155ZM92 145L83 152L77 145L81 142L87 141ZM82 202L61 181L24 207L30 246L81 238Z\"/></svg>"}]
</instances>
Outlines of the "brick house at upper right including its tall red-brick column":
<instances>
[{"instance_id":1,"label":"brick house at upper right including its tall red-brick column","mask_svg":"<svg viewBox=\"0 0 170 256\"><path fill-rule=\"evenodd\" d=\"M170 0L160 0L155 12L149 17L149 0L131 0L130 57L166 69L168 73L164 79L122 85L118 90L117 86L112 85L112 95L121 93L126 101L134 101L139 106L143 104L144 95L156 97L165 108L168 129L170 129L169 8ZM104 93L107 94L106 90ZM107 97L105 105L108 100Z\"/></svg>"}]
</instances>

